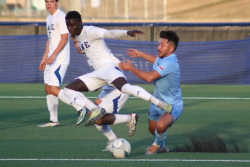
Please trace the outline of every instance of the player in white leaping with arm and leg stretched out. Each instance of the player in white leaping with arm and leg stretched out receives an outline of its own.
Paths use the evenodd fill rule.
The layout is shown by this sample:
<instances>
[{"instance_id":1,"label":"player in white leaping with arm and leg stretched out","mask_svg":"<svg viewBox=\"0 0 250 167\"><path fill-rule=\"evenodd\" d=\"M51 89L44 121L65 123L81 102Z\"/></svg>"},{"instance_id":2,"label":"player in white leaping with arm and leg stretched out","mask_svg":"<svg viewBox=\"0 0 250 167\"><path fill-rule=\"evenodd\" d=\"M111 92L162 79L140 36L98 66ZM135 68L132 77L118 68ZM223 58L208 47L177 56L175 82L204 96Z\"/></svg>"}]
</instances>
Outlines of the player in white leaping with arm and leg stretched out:
<instances>
[{"instance_id":1,"label":"player in white leaping with arm and leg stretched out","mask_svg":"<svg viewBox=\"0 0 250 167\"><path fill-rule=\"evenodd\" d=\"M125 94L133 95L149 101L166 112L172 111L172 105L155 98L139 86L132 86L127 82L123 72L119 69L120 62L107 47L104 38L118 38L129 35L134 37L143 32L138 30L106 30L94 26L83 26L81 15L77 11L70 11L66 15L66 24L71 35L76 36L81 50L93 72L82 75L66 86L64 94L78 105L85 105L85 96L81 92L94 91L108 84L114 85ZM85 126L93 125L105 114L105 110L93 110Z\"/></svg>"}]
</instances>

